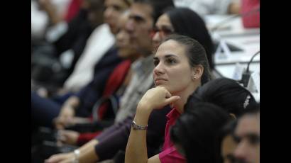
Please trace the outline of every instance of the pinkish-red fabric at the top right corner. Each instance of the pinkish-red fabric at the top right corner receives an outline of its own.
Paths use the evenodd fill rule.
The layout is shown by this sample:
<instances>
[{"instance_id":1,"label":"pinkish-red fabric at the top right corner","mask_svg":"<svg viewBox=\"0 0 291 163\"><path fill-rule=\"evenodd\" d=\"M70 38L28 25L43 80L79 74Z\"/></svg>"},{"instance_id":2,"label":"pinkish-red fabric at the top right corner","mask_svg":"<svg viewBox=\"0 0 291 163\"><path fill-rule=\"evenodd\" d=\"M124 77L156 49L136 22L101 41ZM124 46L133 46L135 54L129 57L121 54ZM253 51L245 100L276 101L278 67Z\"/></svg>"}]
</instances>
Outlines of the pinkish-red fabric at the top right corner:
<instances>
[{"instance_id":1,"label":"pinkish-red fabric at the top right corner","mask_svg":"<svg viewBox=\"0 0 291 163\"><path fill-rule=\"evenodd\" d=\"M258 9L258 10L257 10ZM241 12L248 13L243 16L244 28L260 28L260 0L242 0ZM256 10L256 11L253 11Z\"/></svg>"}]
</instances>

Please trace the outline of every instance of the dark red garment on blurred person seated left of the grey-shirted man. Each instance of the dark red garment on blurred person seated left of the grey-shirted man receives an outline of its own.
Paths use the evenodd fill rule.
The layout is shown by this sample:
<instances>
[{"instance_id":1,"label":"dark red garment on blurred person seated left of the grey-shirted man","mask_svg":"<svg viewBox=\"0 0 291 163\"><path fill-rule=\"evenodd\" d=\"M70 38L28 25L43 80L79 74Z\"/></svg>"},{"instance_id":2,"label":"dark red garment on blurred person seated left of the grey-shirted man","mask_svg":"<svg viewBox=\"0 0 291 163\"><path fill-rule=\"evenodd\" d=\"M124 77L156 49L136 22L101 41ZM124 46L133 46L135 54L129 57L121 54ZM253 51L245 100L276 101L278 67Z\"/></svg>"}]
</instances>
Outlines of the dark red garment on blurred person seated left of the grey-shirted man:
<instances>
[{"instance_id":1,"label":"dark red garment on blurred person seated left of the grey-shirted man","mask_svg":"<svg viewBox=\"0 0 291 163\"><path fill-rule=\"evenodd\" d=\"M107 80L103 96L109 96L111 94L114 94L114 92L119 89L119 86L123 83L126 74L128 72L128 69L131 67L131 61L130 60L125 60L121 62L117 67L114 69L114 71L110 74L109 79ZM108 107L108 103L102 103L98 116L99 119L102 119L104 116L104 113L106 112L106 109ZM90 119L92 120L92 116L90 116ZM82 144L85 142L89 142L89 140L92 140L94 137L99 135L101 131L97 131L96 133L80 133L78 137L78 144Z\"/></svg>"}]
</instances>

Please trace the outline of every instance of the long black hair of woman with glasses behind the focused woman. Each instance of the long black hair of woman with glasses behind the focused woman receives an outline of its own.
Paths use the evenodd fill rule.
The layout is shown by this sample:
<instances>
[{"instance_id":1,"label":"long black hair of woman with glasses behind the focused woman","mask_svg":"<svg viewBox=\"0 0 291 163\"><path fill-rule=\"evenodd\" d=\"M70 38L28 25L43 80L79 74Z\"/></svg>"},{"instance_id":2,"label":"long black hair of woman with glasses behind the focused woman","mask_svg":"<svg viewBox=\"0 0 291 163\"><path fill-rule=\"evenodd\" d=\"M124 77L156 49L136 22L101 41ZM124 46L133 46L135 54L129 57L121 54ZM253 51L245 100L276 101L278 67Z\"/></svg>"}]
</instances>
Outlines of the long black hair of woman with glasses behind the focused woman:
<instances>
[{"instance_id":1,"label":"long black hair of woman with glasses behind the focused woman","mask_svg":"<svg viewBox=\"0 0 291 163\"><path fill-rule=\"evenodd\" d=\"M212 55L214 43L209 35L203 19L194 11L187 8L176 8L165 12L170 18L175 33L187 35L201 43L206 50L210 69L214 69Z\"/></svg>"}]
</instances>

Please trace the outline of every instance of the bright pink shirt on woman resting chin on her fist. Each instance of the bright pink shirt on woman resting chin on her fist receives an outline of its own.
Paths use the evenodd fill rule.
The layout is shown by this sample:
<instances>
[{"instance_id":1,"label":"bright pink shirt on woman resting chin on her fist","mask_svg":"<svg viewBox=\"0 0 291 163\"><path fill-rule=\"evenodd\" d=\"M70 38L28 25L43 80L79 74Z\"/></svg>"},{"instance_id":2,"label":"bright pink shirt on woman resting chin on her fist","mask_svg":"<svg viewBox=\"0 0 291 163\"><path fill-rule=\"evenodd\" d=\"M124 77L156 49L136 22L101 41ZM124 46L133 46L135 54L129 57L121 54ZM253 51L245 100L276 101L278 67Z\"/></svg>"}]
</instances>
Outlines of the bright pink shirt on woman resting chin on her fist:
<instances>
[{"instance_id":1,"label":"bright pink shirt on woman resting chin on her fist","mask_svg":"<svg viewBox=\"0 0 291 163\"><path fill-rule=\"evenodd\" d=\"M170 127L175 124L177 118L179 117L180 117L180 113L175 108L172 108L172 111L170 111L170 113L167 114L168 121L165 126L165 142L163 145L163 151L160 152L159 154L161 163L186 162L185 157L183 157L179 152L177 152L174 144L170 140Z\"/></svg>"}]
</instances>

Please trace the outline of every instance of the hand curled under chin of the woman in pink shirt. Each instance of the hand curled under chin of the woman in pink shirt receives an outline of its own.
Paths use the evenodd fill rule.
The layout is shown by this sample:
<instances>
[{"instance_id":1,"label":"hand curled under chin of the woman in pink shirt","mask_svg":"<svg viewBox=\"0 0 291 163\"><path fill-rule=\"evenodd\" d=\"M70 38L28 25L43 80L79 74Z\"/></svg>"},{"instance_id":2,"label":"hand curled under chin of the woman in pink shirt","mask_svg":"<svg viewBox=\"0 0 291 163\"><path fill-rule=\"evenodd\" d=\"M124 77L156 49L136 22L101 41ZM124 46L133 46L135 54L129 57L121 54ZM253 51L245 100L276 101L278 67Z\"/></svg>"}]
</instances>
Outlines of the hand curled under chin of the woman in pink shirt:
<instances>
[{"instance_id":1,"label":"hand curled under chin of the woman in pink shirt","mask_svg":"<svg viewBox=\"0 0 291 163\"><path fill-rule=\"evenodd\" d=\"M138 108L148 109L152 111L155 108L163 108L170 103L180 99L180 96L172 96L170 92L162 86L157 86L146 91L141 101L138 103Z\"/></svg>"}]
</instances>

